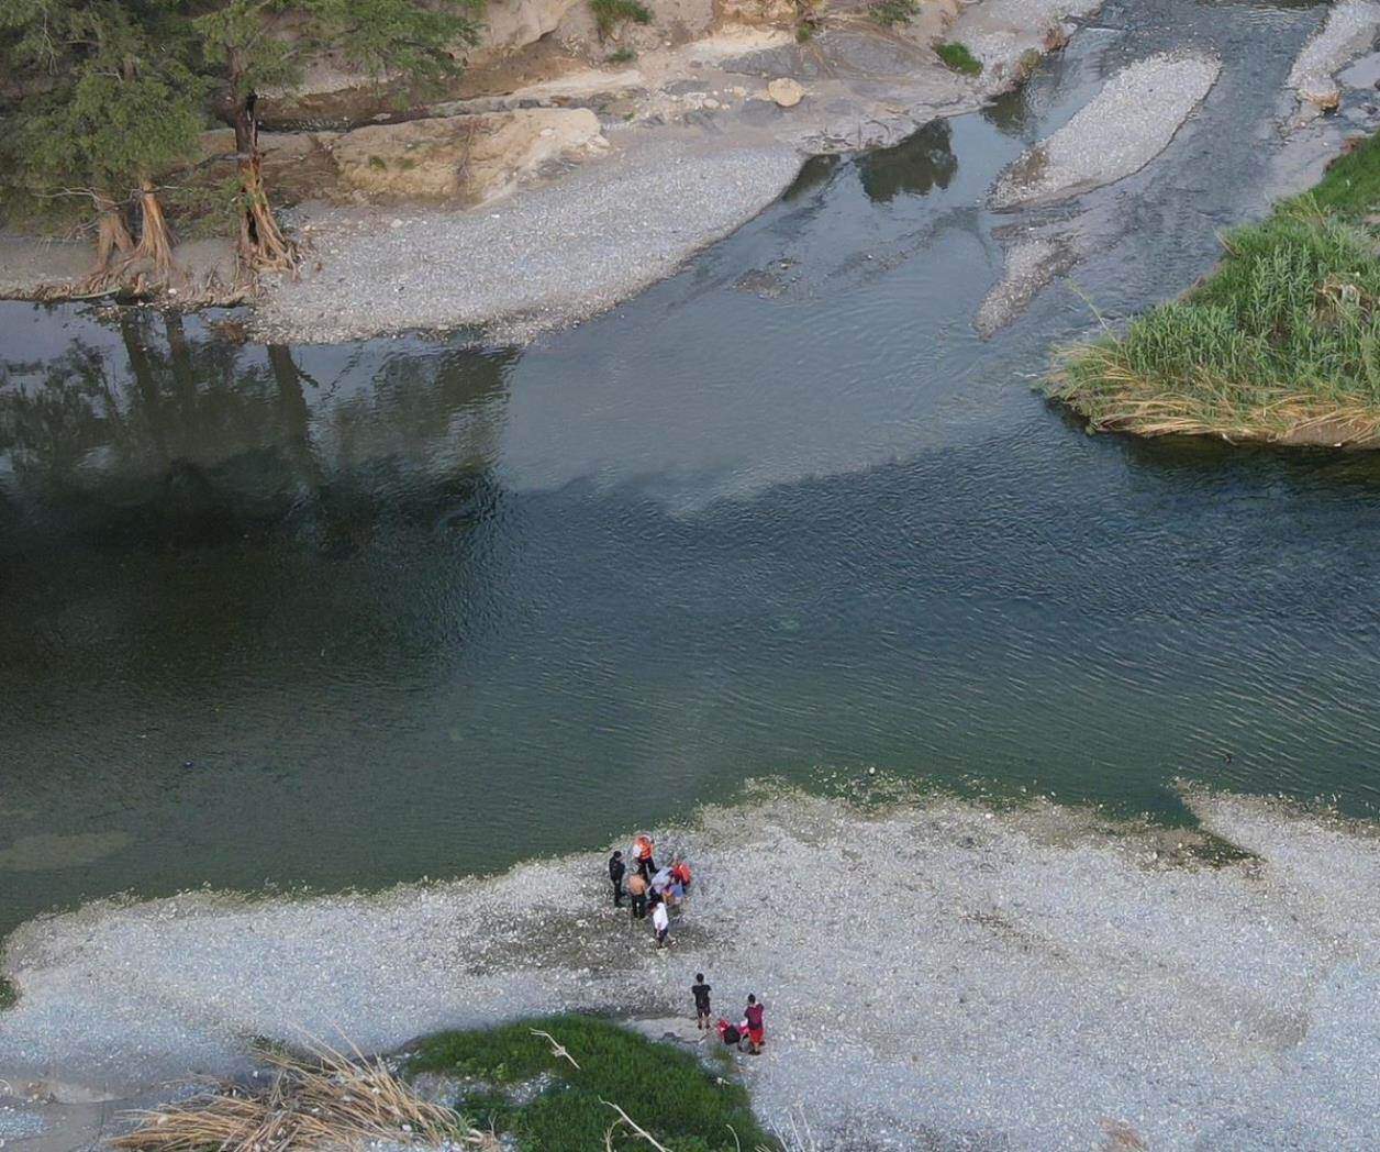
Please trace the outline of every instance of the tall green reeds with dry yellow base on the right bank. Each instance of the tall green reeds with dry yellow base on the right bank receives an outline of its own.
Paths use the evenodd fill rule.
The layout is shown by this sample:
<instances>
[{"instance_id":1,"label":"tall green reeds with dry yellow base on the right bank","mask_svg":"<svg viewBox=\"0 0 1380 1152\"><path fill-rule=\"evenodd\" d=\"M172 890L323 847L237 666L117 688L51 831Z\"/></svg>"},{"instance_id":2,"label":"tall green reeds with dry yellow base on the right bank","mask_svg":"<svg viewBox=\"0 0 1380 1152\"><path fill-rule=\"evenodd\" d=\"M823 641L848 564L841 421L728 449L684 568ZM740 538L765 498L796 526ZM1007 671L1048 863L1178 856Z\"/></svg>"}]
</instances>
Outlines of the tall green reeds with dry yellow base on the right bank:
<instances>
[{"instance_id":1,"label":"tall green reeds with dry yellow base on the right bank","mask_svg":"<svg viewBox=\"0 0 1380 1152\"><path fill-rule=\"evenodd\" d=\"M1050 395L1093 431L1380 445L1377 204L1372 137L1181 298L1065 351Z\"/></svg>"}]
</instances>

